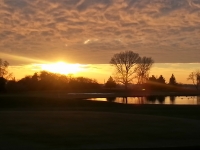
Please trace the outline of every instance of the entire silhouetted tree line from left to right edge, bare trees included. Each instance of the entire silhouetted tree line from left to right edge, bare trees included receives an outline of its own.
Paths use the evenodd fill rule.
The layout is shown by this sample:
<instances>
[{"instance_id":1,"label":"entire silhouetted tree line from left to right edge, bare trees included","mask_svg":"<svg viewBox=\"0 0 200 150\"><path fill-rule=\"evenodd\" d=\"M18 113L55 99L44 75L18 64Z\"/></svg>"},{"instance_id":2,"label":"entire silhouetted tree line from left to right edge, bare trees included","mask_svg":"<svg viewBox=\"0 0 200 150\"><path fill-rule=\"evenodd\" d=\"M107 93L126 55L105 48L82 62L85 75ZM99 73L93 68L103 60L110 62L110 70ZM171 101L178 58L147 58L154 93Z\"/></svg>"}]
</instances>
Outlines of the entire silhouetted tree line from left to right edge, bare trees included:
<instances>
[{"instance_id":1,"label":"entire silhouetted tree line from left to right edge, bare trees included","mask_svg":"<svg viewBox=\"0 0 200 150\"><path fill-rule=\"evenodd\" d=\"M118 84L124 85L127 90L129 84L143 85L146 89L159 90L166 85L165 78L160 75L149 76L154 64L151 57L141 57L133 51L116 53L111 57L110 64L115 68L113 77L110 76L105 87L114 88ZM16 81L8 70L9 63L0 59L0 91L27 91L27 90L79 90L99 89L101 85L95 80L86 77L73 77L72 75L61 75L47 71L34 73ZM196 89L200 86L200 71L191 72L188 76ZM175 76L172 74L168 85L177 86Z\"/></svg>"}]
</instances>

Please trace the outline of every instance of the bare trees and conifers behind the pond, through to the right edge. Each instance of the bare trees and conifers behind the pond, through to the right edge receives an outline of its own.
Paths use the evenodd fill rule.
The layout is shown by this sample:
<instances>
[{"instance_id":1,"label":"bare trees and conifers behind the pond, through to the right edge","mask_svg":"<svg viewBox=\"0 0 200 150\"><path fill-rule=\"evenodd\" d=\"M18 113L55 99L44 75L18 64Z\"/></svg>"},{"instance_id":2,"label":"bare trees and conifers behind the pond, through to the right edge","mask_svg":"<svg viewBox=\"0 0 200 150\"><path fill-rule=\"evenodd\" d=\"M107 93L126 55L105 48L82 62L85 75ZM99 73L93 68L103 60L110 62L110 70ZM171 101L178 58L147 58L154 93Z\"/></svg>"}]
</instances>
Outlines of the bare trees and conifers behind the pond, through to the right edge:
<instances>
[{"instance_id":1,"label":"bare trees and conifers behind the pond, through to the right edge","mask_svg":"<svg viewBox=\"0 0 200 150\"><path fill-rule=\"evenodd\" d=\"M138 53L133 51L124 51L114 54L110 60L110 64L115 68L114 79L111 77L106 83L106 86L116 86L117 83L124 84L125 89L128 85L136 80L136 84L143 85L147 89L169 89L172 86L178 86L174 74L169 79L168 85L165 86L165 78L160 75L156 78L154 75L149 77L150 70L154 64L151 57L141 57ZM188 80L191 80L198 90L200 87L200 71L194 71L189 74Z\"/></svg>"}]
</instances>

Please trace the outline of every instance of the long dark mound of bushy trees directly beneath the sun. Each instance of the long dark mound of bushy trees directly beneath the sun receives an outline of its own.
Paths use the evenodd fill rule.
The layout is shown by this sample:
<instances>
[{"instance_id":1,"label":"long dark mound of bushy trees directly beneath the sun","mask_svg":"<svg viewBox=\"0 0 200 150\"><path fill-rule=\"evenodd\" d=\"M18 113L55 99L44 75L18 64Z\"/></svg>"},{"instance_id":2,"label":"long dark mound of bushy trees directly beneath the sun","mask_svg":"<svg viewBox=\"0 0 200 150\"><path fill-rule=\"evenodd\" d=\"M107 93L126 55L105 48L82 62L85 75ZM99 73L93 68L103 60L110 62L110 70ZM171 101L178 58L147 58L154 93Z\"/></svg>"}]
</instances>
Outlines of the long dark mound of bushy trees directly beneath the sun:
<instances>
[{"instance_id":1,"label":"long dark mound of bushy trees directly beneath the sun","mask_svg":"<svg viewBox=\"0 0 200 150\"><path fill-rule=\"evenodd\" d=\"M8 91L33 91L33 90L79 90L98 89L100 84L90 78L73 77L47 71L25 76L19 81L11 80L6 84Z\"/></svg>"}]
</instances>

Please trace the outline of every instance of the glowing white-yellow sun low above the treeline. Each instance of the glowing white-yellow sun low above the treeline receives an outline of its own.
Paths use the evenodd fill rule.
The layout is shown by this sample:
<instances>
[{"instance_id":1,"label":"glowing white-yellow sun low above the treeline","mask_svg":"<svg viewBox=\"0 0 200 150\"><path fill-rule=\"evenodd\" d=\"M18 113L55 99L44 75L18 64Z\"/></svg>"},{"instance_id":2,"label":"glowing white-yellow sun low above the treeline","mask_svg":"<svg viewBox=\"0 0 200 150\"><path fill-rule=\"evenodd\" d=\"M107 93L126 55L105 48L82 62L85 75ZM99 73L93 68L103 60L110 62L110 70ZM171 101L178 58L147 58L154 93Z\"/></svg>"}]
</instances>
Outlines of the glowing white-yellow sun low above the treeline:
<instances>
[{"instance_id":1,"label":"glowing white-yellow sun low above the treeline","mask_svg":"<svg viewBox=\"0 0 200 150\"><path fill-rule=\"evenodd\" d=\"M59 74L76 74L82 70L80 64L68 64L65 62L42 64L41 69Z\"/></svg>"}]
</instances>

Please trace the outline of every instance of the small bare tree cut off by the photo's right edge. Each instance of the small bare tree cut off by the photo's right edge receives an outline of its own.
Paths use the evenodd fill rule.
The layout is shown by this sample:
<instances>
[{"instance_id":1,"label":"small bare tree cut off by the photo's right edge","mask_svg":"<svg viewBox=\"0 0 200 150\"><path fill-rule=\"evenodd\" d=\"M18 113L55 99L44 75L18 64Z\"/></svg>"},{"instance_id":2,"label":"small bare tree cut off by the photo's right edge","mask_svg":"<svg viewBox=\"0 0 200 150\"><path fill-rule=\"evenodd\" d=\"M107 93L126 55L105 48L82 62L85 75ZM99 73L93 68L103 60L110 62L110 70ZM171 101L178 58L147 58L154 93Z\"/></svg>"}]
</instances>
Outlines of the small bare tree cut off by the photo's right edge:
<instances>
[{"instance_id":1,"label":"small bare tree cut off by the photo's right edge","mask_svg":"<svg viewBox=\"0 0 200 150\"><path fill-rule=\"evenodd\" d=\"M188 80L192 80L192 83L194 84L194 86L196 87L196 89L199 89L200 86L200 71L194 71L191 72L187 78Z\"/></svg>"}]
</instances>

